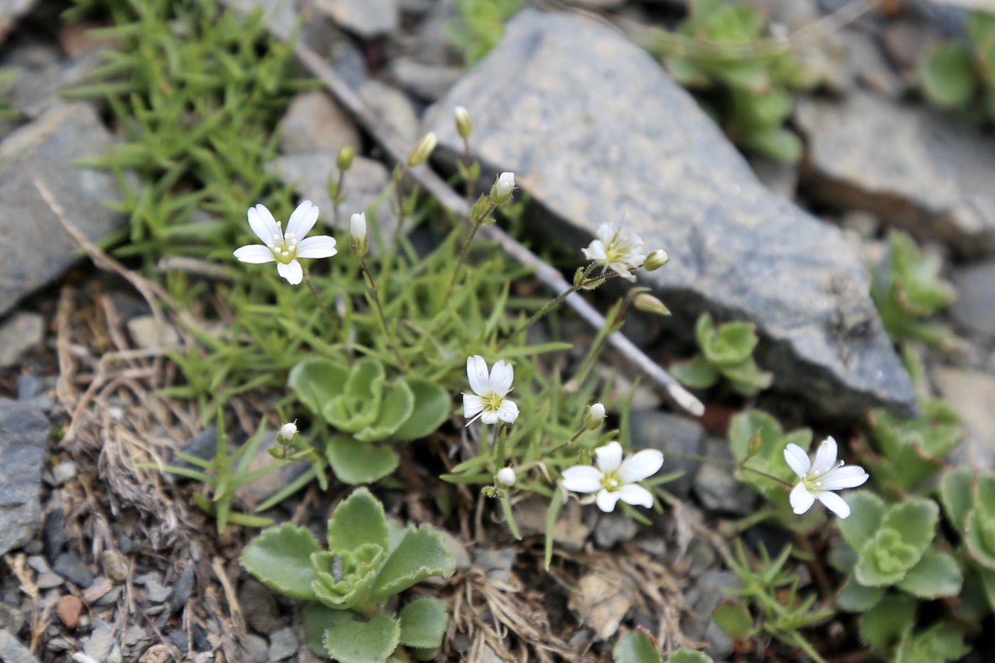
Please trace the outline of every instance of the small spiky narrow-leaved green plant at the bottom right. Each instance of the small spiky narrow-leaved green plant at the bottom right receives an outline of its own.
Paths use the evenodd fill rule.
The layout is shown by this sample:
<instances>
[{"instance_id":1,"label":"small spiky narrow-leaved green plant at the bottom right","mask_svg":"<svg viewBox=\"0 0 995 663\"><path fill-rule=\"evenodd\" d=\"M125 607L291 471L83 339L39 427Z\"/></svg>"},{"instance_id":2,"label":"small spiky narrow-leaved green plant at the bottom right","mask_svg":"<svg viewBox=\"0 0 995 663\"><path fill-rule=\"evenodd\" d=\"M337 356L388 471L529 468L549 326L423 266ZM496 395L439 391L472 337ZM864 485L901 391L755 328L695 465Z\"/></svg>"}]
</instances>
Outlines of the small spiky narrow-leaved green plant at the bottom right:
<instances>
[{"instance_id":1,"label":"small spiky narrow-leaved green plant at the bottom right","mask_svg":"<svg viewBox=\"0 0 995 663\"><path fill-rule=\"evenodd\" d=\"M804 598L798 595L798 574L785 568L790 556L790 546L785 546L773 559L761 546L757 568L754 569L742 542L737 539L735 558L727 559L727 562L742 584L725 591L745 602L730 600L719 603L711 616L719 628L736 640L766 633L821 662L824 659L798 630L825 619L832 614L832 610L813 610L817 598L814 593ZM747 604L755 607L756 616L749 611Z\"/></svg>"}]
</instances>

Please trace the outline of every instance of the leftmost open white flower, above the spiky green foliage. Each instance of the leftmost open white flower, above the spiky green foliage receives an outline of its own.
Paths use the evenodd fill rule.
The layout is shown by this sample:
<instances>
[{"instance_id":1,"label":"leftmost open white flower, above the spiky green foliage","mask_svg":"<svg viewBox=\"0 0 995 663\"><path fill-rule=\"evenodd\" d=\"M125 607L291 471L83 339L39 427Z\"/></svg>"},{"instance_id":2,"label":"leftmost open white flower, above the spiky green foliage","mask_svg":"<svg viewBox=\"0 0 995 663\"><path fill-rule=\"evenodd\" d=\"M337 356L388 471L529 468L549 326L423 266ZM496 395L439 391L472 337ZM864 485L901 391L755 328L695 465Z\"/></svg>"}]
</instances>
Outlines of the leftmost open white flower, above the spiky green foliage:
<instances>
[{"instance_id":1,"label":"leftmost open white flower, above the spiky green foliage","mask_svg":"<svg viewBox=\"0 0 995 663\"><path fill-rule=\"evenodd\" d=\"M235 257L243 263L262 264L277 262L277 272L287 279L291 285L297 285L303 279L303 270L298 258L330 258L338 253L335 250L335 240L327 235L308 237L317 221L317 206L305 200L291 214L287 222L287 232L280 228L280 222L266 205L259 204L249 208L249 227L256 237L266 246L247 244L235 250Z\"/></svg>"}]
</instances>

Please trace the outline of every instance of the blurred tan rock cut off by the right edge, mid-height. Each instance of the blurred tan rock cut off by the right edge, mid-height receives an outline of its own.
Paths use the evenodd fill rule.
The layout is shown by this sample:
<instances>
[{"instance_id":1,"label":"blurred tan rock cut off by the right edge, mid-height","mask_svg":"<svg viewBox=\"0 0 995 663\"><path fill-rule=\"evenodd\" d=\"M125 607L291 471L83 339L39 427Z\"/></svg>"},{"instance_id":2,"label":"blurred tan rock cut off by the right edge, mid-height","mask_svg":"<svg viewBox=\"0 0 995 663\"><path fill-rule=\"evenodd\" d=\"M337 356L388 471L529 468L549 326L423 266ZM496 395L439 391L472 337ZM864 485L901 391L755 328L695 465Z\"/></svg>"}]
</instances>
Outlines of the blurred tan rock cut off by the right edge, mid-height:
<instances>
[{"instance_id":1,"label":"blurred tan rock cut off by the right edge, mid-height","mask_svg":"<svg viewBox=\"0 0 995 663\"><path fill-rule=\"evenodd\" d=\"M995 377L976 370L937 366L930 371L943 400L964 422L964 443L950 454L951 462L979 470L995 470Z\"/></svg>"}]
</instances>

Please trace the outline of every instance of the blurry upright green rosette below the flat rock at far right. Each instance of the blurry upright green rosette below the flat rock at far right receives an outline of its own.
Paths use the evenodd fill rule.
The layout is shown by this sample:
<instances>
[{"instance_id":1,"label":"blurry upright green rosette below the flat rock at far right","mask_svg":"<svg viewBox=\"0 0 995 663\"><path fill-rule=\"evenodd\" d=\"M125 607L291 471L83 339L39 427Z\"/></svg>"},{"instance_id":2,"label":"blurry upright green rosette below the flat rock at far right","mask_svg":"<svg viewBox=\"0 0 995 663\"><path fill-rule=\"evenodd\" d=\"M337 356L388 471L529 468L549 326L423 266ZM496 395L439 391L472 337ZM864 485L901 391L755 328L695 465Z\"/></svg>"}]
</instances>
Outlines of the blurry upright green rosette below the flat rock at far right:
<instances>
[{"instance_id":1,"label":"blurry upright green rosette below the flat rock at far right","mask_svg":"<svg viewBox=\"0 0 995 663\"><path fill-rule=\"evenodd\" d=\"M872 268L871 296L885 330L893 340L919 340L945 351L964 348L964 341L945 325L922 319L953 302L953 287L939 277L940 260L921 253L907 234L889 235L885 263Z\"/></svg>"}]
</instances>

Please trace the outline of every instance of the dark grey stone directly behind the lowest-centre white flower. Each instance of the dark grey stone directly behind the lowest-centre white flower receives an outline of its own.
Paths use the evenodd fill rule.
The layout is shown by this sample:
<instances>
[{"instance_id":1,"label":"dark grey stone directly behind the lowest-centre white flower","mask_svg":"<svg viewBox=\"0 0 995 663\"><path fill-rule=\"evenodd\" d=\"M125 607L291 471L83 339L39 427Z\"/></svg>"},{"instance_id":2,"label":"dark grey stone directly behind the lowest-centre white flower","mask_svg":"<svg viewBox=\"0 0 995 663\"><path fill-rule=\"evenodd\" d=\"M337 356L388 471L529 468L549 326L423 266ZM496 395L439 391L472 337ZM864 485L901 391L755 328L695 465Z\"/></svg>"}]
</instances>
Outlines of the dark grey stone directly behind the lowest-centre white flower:
<instances>
[{"instance_id":1,"label":"dark grey stone directly behind the lowest-centre white flower","mask_svg":"<svg viewBox=\"0 0 995 663\"><path fill-rule=\"evenodd\" d=\"M680 454L700 456L704 450L705 431L701 424L679 414L633 411L629 414L629 437L638 449L659 449L664 453L664 472L684 470L684 475L664 488L679 497L687 497L695 482L697 460ZM677 455L671 455L677 454Z\"/></svg>"}]
</instances>

